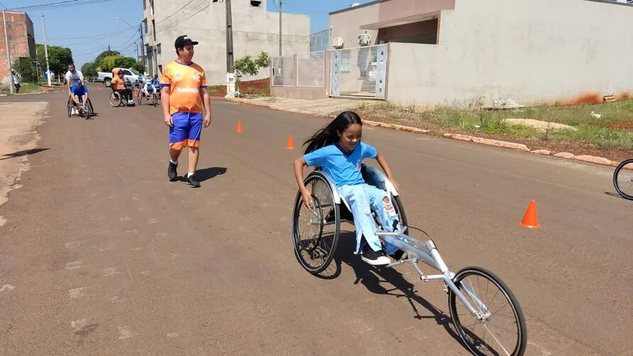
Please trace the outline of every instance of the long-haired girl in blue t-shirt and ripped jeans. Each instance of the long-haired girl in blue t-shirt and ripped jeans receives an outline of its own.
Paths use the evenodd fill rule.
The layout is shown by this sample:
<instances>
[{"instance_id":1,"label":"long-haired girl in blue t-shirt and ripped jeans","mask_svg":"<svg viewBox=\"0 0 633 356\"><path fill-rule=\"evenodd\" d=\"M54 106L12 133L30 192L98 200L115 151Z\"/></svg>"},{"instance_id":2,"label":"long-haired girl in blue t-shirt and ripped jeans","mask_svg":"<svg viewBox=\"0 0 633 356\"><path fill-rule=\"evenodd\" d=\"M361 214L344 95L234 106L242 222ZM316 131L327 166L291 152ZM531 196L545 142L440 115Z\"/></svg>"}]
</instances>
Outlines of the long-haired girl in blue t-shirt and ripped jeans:
<instances>
[{"instance_id":1,"label":"long-haired girl in blue t-shirt and ripped jeans","mask_svg":"<svg viewBox=\"0 0 633 356\"><path fill-rule=\"evenodd\" d=\"M311 207L310 191L303 183L303 166L318 166L328 173L342 198L350 205L356 227L356 250L363 261L374 266L390 264L391 259L385 256L376 224L372 217L372 209L387 232L398 227L398 215L389 194L373 185L365 183L361 164L364 158L375 158L386 176L396 184L389 165L384 156L362 139L362 121L355 112L342 112L328 126L317 131L305 141L304 155L294 162L294 173L303 197L303 203ZM364 243L363 243L364 240ZM400 259L403 252L397 247L386 244L386 254Z\"/></svg>"}]
</instances>

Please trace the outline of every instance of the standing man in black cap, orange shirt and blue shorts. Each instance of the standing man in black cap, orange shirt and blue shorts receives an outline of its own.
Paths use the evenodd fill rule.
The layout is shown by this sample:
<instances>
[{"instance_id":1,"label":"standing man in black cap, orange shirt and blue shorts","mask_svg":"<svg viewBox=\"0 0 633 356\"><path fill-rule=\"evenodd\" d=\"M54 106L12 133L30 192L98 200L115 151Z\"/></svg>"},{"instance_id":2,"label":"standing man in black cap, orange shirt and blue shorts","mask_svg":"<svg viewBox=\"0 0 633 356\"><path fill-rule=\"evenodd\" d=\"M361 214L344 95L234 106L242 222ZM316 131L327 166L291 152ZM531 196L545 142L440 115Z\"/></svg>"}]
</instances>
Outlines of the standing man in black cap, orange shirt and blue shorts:
<instances>
[{"instance_id":1,"label":"standing man in black cap, orange shirt and blue shorts","mask_svg":"<svg viewBox=\"0 0 633 356\"><path fill-rule=\"evenodd\" d=\"M200 132L211 122L210 99L205 70L193 63L193 46L198 42L188 36L175 40L178 59L169 63L161 77L161 105L165 124L169 126L169 155L167 174L174 181L178 176L178 157L183 147L189 147L189 171L185 174L188 185L199 187L195 168L200 155ZM202 103L205 116L202 119Z\"/></svg>"}]
</instances>

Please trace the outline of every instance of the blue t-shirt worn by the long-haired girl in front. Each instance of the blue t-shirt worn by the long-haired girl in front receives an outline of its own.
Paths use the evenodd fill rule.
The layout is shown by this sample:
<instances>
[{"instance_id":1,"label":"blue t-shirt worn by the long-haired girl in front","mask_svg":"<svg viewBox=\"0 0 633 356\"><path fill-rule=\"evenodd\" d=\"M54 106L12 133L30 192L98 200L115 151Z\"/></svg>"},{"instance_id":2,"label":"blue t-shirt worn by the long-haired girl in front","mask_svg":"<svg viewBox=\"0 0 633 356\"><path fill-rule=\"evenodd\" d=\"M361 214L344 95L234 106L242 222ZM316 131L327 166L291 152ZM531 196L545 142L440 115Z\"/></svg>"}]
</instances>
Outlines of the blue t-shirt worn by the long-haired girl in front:
<instances>
[{"instance_id":1,"label":"blue t-shirt worn by the long-haired girl in front","mask_svg":"<svg viewBox=\"0 0 633 356\"><path fill-rule=\"evenodd\" d=\"M360 172L362 160L376 158L377 154L373 146L359 142L351 153L346 153L337 144L330 144L306 154L303 159L308 166L320 166L340 187L365 183Z\"/></svg>"}]
</instances>

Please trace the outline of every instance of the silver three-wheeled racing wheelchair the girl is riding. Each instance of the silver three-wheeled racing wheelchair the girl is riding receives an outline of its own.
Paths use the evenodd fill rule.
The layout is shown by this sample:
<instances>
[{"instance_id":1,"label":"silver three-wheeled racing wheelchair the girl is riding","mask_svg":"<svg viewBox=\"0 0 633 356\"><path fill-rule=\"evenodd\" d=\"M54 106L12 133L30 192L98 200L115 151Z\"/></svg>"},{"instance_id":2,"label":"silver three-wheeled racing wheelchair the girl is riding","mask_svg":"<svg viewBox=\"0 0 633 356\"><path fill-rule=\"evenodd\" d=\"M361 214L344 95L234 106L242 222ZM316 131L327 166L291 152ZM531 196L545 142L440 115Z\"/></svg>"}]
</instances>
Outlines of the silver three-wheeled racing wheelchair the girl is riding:
<instances>
[{"instance_id":1,"label":"silver three-wheeled racing wheelchair the girl is riding","mask_svg":"<svg viewBox=\"0 0 633 356\"><path fill-rule=\"evenodd\" d=\"M433 239L418 241L409 236L410 227L407 226L399 194L384 172L364 164L361 171L367 184L386 191L399 216L399 227L394 232L386 232L380 226L376 213L372 212L381 242L393 244L404 252L401 259L386 265L386 268L411 264L421 280L443 281L455 329L474 355L524 355L527 345L525 318L514 293L504 281L479 266L465 267L457 273L450 271ZM295 257L303 269L317 275L328 268L334 257L341 222L354 225L354 217L350 205L342 198L328 173L315 168L304 183L310 190L313 203L311 208L305 207L301 191L297 193L292 219L293 246ZM425 274L418 262L431 266L440 274ZM492 293L485 298L489 291ZM497 322L504 325L495 327L493 324ZM483 335L477 335L480 331ZM497 331L511 335L496 335Z\"/></svg>"}]
</instances>

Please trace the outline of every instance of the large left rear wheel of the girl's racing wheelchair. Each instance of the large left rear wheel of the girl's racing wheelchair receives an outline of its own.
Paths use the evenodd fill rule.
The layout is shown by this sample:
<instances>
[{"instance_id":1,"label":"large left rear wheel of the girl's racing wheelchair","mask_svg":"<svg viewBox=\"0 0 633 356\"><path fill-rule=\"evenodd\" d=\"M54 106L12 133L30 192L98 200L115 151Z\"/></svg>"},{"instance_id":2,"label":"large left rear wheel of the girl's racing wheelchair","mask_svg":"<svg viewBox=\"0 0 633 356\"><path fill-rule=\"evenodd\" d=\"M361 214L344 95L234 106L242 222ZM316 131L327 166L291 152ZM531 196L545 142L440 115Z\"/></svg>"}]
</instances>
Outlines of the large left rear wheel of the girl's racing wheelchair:
<instances>
[{"instance_id":1,"label":"large left rear wheel of the girl's racing wheelchair","mask_svg":"<svg viewBox=\"0 0 633 356\"><path fill-rule=\"evenodd\" d=\"M292 234L295 257L311 274L319 274L332 262L340 235L340 205L320 173L310 173L304 181L312 196L312 208L303 205L301 191L293 209Z\"/></svg>"}]
</instances>

